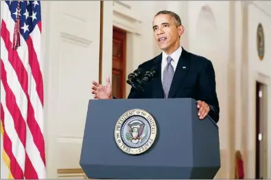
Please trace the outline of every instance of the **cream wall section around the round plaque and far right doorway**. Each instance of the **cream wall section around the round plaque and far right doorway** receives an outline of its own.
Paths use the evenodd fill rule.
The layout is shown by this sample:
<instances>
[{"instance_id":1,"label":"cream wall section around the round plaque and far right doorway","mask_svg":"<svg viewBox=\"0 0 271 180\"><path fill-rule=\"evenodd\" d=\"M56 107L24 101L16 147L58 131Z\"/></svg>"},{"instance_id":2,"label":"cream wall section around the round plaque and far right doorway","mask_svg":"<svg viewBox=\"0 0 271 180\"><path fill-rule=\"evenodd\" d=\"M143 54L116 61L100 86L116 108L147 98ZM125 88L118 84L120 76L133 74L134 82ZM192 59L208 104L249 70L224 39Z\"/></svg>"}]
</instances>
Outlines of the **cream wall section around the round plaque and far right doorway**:
<instances>
[{"instance_id":1,"label":"cream wall section around the round plaque and far right doorway","mask_svg":"<svg viewBox=\"0 0 271 180\"><path fill-rule=\"evenodd\" d=\"M268 8L269 14L263 12L261 7L266 6ZM264 94L264 97L268 98L268 124L267 124L267 133L268 133L268 178L271 178L271 5L262 3L252 3L248 7L248 97L252 99L248 100L248 131L251 132L248 134L248 161L249 169L254 168L255 164L255 88L256 80L263 82L268 85L267 92ZM263 60L259 60L257 53L257 27L258 24L263 25L263 32L265 35L265 54ZM266 138L266 137L263 137ZM254 178L254 170L248 172L248 178ZM254 172L255 173L255 172Z\"/></svg>"}]
</instances>

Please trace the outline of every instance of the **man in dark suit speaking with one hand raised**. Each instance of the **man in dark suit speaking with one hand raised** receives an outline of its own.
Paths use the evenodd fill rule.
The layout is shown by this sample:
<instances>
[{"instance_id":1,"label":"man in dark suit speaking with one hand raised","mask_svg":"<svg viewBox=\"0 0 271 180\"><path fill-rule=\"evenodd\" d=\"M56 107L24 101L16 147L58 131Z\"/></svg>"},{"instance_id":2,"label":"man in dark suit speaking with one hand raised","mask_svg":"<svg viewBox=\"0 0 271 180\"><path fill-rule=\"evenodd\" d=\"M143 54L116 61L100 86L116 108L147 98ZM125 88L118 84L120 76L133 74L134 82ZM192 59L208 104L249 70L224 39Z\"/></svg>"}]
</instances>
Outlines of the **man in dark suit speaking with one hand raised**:
<instances>
[{"instance_id":1,"label":"man in dark suit speaking with one hand raised","mask_svg":"<svg viewBox=\"0 0 271 180\"><path fill-rule=\"evenodd\" d=\"M174 12L161 11L154 16L154 37L163 52L139 65L143 72L158 67L156 76L145 85L144 93L130 90L128 98L193 98L198 101L200 120L210 115L219 120L220 106L215 90L215 71L210 60L187 52L180 46L184 27ZM93 82L97 99L113 98L109 77L107 85Z\"/></svg>"}]
</instances>

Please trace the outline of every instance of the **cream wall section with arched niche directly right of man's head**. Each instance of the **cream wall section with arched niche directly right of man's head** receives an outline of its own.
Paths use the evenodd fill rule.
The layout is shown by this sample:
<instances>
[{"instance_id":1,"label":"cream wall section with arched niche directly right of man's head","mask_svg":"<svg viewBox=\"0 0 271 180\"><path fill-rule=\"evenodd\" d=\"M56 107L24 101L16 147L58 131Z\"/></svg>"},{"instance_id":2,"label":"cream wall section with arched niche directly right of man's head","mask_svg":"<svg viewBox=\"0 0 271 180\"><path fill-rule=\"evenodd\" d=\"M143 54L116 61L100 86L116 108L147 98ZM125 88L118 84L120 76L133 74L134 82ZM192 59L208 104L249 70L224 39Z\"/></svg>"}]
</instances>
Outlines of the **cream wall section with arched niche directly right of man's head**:
<instances>
[{"instance_id":1,"label":"cream wall section with arched niche directly right of man's head","mask_svg":"<svg viewBox=\"0 0 271 180\"><path fill-rule=\"evenodd\" d=\"M215 69L217 97L220 102L220 150L222 168L220 176L230 177L232 164L229 135L228 71L231 32L230 1L189 1L189 51L211 60Z\"/></svg>"}]
</instances>

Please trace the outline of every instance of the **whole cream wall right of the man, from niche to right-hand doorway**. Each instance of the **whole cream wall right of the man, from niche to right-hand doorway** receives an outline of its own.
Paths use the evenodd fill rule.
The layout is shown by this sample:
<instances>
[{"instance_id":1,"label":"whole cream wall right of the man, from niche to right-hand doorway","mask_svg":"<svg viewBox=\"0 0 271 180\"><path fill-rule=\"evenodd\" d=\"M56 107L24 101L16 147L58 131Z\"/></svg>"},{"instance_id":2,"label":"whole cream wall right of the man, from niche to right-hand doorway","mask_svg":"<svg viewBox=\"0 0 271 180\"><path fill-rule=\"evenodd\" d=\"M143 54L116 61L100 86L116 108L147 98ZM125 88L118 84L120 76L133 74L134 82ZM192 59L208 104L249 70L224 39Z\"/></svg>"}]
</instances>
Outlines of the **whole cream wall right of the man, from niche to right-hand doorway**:
<instances>
[{"instance_id":1,"label":"whole cream wall right of the man, from niche to right-hand doorway","mask_svg":"<svg viewBox=\"0 0 271 180\"><path fill-rule=\"evenodd\" d=\"M221 108L218 125L222 168L217 176L220 178L234 178L235 150L241 150L244 155L246 178L255 178L255 141L252 140L255 138L255 80L265 82L270 92L270 16L270 6L259 1L249 6L233 1L189 1L189 51L209 58L215 67ZM259 22L266 34L266 54L262 61L257 57ZM246 79L248 83L240 82ZM270 124L269 113L269 129ZM268 159L271 159L270 142ZM270 164L268 161L269 178Z\"/></svg>"}]
</instances>

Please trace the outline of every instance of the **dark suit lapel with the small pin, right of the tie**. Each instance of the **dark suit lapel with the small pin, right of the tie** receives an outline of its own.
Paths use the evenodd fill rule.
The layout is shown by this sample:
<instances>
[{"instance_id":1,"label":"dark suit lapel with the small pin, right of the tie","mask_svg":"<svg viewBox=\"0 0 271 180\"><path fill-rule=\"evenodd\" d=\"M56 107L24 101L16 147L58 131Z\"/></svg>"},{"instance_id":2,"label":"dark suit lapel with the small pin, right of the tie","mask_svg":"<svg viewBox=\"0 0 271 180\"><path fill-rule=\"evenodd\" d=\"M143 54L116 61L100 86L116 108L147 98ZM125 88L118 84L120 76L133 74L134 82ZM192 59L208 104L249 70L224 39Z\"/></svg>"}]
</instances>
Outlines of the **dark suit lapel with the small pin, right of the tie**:
<instances>
[{"instance_id":1,"label":"dark suit lapel with the small pin, right of the tie","mask_svg":"<svg viewBox=\"0 0 271 180\"><path fill-rule=\"evenodd\" d=\"M174 73L173 80L172 80L172 85L169 89L168 98L174 97L180 83L187 75L189 68L190 68L190 61L187 56L187 51L185 51L185 49L182 48L182 54L180 55L180 58L178 60L176 71Z\"/></svg>"}]
</instances>

